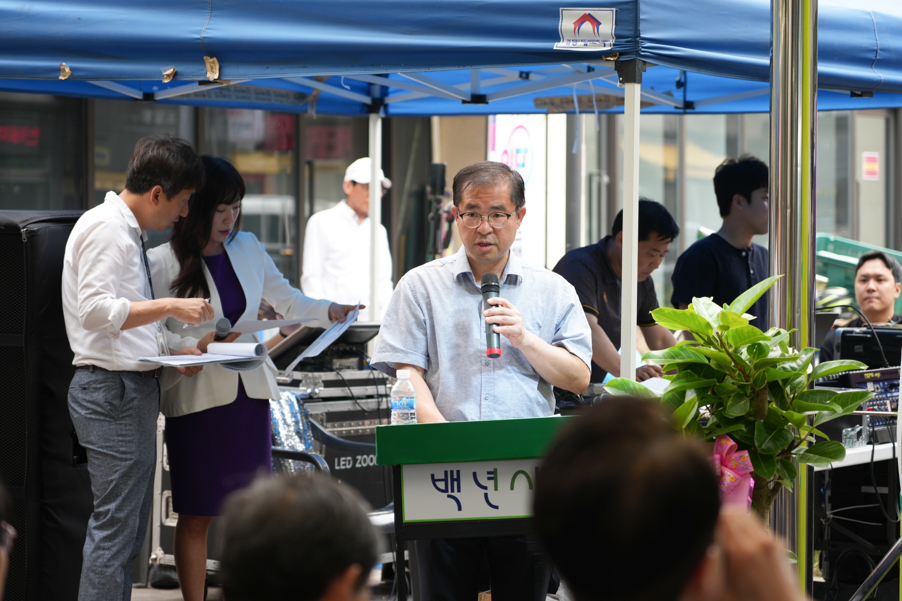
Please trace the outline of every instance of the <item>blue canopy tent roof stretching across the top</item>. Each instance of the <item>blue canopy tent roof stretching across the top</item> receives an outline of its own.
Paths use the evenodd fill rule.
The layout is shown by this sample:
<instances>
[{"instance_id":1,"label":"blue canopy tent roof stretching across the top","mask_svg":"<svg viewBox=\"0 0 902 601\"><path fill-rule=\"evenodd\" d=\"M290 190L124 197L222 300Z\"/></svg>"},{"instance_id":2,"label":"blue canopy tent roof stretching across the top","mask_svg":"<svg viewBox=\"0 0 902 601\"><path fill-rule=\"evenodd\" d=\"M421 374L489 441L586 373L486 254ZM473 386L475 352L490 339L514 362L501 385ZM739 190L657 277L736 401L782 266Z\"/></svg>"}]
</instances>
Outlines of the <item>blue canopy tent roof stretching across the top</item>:
<instances>
[{"instance_id":1,"label":"blue canopy tent roof stretching across the top","mask_svg":"<svg viewBox=\"0 0 902 601\"><path fill-rule=\"evenodd\" d=\"M645 112L682 110L684 100L696 113L769 110L768 86L759 83L769 79L769 0L701 0L678 11L666 0L604 5L613 14L610 43L562 50L562 9L545 0L428 8L411 0L3 2L0 89L295 111L306 111L319 89L318 112L366 114L373 77L390 74L388 89L376 88L386 116L544 113L536 98L572 95L574 86L580 95L622 96L605 60L617 57L663 66L645 75L643 101L654 103ZM822 0L818 86L838 93L822 95L820 107L902 105L902 96L887 94L902 92L902 51L892 45L900 35L897 3ZM205 57L216 59L215 73ZM587 72L593 68L597 77ZM691 75L677 88L681 70ZM225 82L241 87L222 89ZM471 94L488 104L464 104Z\"/></svg>"}]
</instances>

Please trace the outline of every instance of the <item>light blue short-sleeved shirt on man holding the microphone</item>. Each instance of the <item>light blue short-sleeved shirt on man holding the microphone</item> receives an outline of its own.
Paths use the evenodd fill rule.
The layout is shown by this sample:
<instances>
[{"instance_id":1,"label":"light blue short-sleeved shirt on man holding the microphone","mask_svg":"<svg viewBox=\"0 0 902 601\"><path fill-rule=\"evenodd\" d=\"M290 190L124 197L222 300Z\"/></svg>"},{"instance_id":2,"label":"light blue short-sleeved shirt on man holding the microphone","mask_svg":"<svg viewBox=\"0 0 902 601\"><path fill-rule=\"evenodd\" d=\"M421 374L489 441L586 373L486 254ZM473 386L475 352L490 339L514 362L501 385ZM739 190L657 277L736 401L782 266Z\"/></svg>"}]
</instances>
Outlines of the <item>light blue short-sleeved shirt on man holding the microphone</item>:
<instances>
[{"instance_id":1,"label":"light blue short-sleeved shirt on man holding the microphone","mask_svg":"<svg viewBox=\"0 0 902 601\"><path fill-rule=\"evenodd\" d=\"M566 279L511 253L501 282L499 296L520 310L528 332L589 365L589 323ZM449 422L553 414L551 385L507 338L501 337L500 358L485 356L483 320L483 296L464 249L411 269L391 296L373 367L392 377L398 363L425 369L438 411Z\"/></svg>"}]
</instances>

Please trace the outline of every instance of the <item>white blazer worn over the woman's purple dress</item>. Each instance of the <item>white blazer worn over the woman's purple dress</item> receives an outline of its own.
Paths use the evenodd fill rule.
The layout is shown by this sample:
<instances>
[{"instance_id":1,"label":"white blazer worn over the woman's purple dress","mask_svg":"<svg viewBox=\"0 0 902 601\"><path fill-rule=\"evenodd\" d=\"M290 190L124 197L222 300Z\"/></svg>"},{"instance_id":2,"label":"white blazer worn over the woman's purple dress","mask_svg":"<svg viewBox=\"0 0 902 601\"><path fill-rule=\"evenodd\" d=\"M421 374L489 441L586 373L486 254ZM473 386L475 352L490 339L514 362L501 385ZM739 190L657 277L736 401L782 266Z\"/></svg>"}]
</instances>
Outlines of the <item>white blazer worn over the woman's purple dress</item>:
<instances>
[{"instance_id":1,"label":"white blazer worn over the woman's purple dress","mask_svg":"<svg viewBox=\"0 0 902 601\"><path fill-rule=\"evenodd\" d=\"M239 322L257 319L257 310L261 299L275 308L285 319L315 317L318 321L305 325L326 327L329 323L329 305L331 301L315 300L304 296L297 288L291 287L289 281L276 268L272 258L263 250L263 245L251 232L238 232L235 239L226 244L226 254L235 269L235 275L244 288L246 305ZM153 290L158 298L174 296L172 281L179 275L179 260L176 259L170 244L167 242L147 251L151 260ZM216 285L210 276L207 265L204 265L207 287L210 289L210 304L213 305L214 317L211 321L198 327L184 323L174 317L163 322L170 349L180 351L198 345L198 341L208 332L216 330L216 320L223 316L222 303ZM238 338L241 342L257 341L254 334L244 334ZM244 382L244 390L251 398L279 398L279 387L276 384L276 367L267 358L262 366L240 374L219 365L206 365L191 378L179 375L174 369L163 369L160 378L160 410L167 417L192 414L210 407L228 405L238 396L238 377Z\"/></svg>"}]
</instances>

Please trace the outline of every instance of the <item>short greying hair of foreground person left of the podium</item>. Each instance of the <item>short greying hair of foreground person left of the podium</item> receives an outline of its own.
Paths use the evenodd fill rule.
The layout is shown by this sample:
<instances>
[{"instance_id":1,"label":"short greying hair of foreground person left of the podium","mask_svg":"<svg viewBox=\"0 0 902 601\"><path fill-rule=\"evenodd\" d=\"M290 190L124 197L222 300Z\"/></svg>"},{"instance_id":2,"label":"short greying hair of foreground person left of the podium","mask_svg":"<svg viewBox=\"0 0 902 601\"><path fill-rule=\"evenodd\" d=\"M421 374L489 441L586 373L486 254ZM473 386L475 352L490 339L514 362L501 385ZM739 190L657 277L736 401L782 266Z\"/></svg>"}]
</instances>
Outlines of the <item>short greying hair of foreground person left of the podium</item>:
<instances>
[{"instance_id":1,"label":"short greying hair of foreground person left of the podium","mask_svg":"<svg viewBox=\"0 0 902 601\"><path fill-rule=\"evenodd\" d=\"M366 502L329 478L260 478L229 496L221 569L228 601L315 601L357 564L357 590L376 560Z\"/></svg>"}]
</instances>

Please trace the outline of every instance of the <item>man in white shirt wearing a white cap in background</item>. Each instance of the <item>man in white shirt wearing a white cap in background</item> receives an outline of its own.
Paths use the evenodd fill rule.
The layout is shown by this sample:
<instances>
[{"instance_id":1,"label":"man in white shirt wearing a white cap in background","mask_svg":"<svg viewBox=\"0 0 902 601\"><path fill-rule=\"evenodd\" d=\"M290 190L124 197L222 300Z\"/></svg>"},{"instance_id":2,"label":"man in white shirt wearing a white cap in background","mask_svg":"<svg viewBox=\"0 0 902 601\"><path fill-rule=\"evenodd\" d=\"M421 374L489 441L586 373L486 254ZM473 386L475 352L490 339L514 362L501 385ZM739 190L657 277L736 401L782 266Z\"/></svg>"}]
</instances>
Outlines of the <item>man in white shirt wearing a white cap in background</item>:
<instances>
[{"instance_id":1,"label":"man in white shirt wearing a white cap in background","mask_svg":"<svg viewBox=\"0 0 902 601\"><path fill-rule=\"evenodd\" d=\"M370 169L368 157L357 159L345 170L345 200L331 209L313 214L304 235L304 265L300 287L312 298L331 298L336 303L370 305ZM382 191L391 180L379 169ZM379 224L377 261L379 306L361 310L362 322L379 321L391 298L391 251L389 237Z\"/></svg>"}]
</instances>

